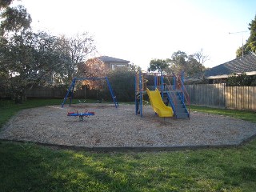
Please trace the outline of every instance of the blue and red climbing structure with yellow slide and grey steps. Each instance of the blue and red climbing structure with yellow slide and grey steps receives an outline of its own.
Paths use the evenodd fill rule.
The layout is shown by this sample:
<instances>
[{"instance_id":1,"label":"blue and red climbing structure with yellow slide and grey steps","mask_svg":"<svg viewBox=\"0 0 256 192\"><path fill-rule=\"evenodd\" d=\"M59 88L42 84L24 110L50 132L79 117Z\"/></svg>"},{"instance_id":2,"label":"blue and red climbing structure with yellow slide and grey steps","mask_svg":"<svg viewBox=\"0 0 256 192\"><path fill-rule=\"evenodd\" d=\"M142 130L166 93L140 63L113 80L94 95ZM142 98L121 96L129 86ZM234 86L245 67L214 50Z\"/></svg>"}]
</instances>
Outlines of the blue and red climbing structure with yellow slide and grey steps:
<instances>
[{"instance_id":1,"label":"blue and red climbing structure with yellow slide and grey steps","mask_svg":"<svg viewBox=\"0 0 256 192\"><path fill-rule=\"evenodd\" d=\"M154 90L146 86L146 75L154 75ZM143 114L144 94L150 98L150 105L161 118L190 118L190 97L184 86L183 73L170 76L161 73L142 74L135 77L135 111ZM160 89L160 90L159 90Z\"/></svg>"}]
</instances>

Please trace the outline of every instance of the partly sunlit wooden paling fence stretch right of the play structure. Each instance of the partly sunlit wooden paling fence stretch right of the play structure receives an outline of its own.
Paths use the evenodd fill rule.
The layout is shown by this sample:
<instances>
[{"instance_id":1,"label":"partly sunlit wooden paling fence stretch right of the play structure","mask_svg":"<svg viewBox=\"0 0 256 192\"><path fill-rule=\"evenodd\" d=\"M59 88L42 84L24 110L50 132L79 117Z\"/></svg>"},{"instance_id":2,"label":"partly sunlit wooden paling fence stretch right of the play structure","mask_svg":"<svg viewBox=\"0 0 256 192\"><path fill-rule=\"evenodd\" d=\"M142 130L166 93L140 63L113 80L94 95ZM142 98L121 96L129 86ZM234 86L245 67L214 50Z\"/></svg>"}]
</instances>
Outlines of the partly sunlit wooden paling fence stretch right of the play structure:
<instances>
[{"instance_id":1,"label":"partly sunlit wooden paling fence stretch right of the play structure","mask_svg":"<svg viewBox=\"0 0 256 192\"><path fill-rule=\"evenodd\" d=\"M226 86L221 84L186 85L190 102L199 106L217 106L256 111L255 86Z\"/></svg>"}]
</instances>

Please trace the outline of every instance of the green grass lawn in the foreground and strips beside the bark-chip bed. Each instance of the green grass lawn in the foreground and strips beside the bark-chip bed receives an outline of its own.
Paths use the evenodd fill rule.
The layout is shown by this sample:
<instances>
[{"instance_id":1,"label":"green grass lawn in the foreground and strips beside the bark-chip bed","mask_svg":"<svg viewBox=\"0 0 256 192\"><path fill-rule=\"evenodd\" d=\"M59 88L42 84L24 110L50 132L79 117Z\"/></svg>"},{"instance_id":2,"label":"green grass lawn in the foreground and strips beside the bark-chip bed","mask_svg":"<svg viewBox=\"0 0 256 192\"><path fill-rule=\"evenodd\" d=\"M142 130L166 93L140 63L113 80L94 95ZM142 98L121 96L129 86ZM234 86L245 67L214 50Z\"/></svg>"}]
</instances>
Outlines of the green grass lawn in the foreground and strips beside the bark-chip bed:
<instances>
[{"instance_id":1,"label":"green grass lawn in the foreground and strips beside the bark-chip bed","mask_svg":"<svg viewBox=\"0 0 256 192\"><path fill-rule=\"evenodd\" d=\"M0 107L11 114L12 108L17 112L44 102L50 105L43 100L20 106L4 102ZM240 113L192 109L226 111L234 117ZM238 117L254 121L255 114L241 112ZM93 153L2 141L0 191L255 191L255 157L255 139L236 148L142 153Z\"/></svg>"}]
</instances>

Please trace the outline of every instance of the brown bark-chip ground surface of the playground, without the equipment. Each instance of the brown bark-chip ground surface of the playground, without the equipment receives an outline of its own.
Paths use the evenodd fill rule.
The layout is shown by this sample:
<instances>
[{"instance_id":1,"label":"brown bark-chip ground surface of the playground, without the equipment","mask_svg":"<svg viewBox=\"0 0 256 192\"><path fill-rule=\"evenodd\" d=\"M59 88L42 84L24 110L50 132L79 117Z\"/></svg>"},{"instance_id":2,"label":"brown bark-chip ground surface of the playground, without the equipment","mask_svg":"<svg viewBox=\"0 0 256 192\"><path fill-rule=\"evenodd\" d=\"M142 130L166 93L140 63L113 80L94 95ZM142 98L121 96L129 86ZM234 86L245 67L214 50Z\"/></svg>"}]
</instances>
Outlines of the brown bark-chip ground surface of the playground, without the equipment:
<instances>
[{"instance_id":1,"label":"brown bark-chip ground surface of the playground, without the equipment","mask_svg":"<svg viewBox=\"0 0 256 192\"><path fill-rule=\"evenodd\" d=\"M68 111L94 111L84 117ZM18 112L2 128L1 139L82 147L198 147L236 146L256 134L256 124L226 116L190 113L190 119L159 118L151 106L143 118L134 105L80 103L45 106Z\"/></svg>"}]
</instances>

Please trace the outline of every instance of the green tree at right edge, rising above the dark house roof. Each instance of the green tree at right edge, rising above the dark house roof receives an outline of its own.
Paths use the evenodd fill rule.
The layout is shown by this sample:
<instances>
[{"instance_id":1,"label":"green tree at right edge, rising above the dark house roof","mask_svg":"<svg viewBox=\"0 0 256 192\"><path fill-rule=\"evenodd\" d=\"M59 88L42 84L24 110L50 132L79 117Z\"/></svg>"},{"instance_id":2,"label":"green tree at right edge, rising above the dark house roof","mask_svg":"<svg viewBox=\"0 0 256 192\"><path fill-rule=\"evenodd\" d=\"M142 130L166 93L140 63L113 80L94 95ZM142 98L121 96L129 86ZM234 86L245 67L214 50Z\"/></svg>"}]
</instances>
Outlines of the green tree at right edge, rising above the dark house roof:
<instances>
[{"instance_id":1,"label":"green tree at right edge, rising above the dark house roof","mask_svg":"<svg viewBox=\"0 0 256 192\"><path fill-rule=\"evenodd\" d=\"M243 54L249 54L250 51L256 53L256 15L254 20L249 23L250 37L243 46ZM242 57L242 47L239 47L236 52L237 58Z\"/></svg>"}]
</instances>

